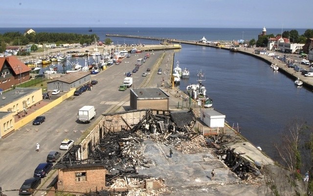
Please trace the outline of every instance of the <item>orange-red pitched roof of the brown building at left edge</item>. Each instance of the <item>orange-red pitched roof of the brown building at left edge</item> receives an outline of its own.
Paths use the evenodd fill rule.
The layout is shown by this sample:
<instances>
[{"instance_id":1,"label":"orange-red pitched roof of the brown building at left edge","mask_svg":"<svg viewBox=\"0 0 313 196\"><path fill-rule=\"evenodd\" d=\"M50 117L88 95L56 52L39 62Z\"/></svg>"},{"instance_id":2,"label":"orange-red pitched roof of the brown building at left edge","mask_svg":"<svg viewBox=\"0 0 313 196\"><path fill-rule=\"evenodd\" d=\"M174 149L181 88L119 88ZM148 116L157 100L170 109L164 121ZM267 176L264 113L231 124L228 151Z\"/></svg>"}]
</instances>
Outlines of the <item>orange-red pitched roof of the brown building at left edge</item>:
<instances>
[{"instance_id":1,"label":"orange-red pitched roof of the brown building at left edge","mask_svg":"<svg viewBox=\"0 0 313 196\"><path fill-rule=\"evenodd\" d=\"M13 72L16 75L20 74L20 72L25 73L31 70L27 65L25 65L25 63L23 63L21 60L19 60L15 56L0 57L0 69L2 69L5 61L12 68Z\"/></svg>"}]
</instances>

